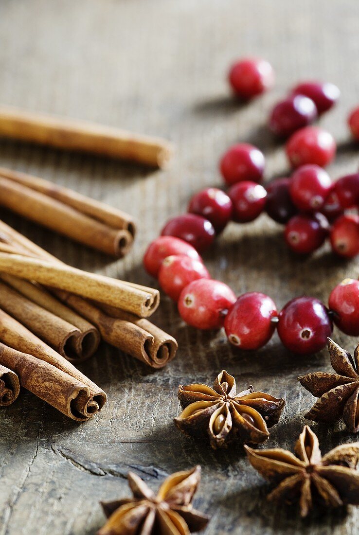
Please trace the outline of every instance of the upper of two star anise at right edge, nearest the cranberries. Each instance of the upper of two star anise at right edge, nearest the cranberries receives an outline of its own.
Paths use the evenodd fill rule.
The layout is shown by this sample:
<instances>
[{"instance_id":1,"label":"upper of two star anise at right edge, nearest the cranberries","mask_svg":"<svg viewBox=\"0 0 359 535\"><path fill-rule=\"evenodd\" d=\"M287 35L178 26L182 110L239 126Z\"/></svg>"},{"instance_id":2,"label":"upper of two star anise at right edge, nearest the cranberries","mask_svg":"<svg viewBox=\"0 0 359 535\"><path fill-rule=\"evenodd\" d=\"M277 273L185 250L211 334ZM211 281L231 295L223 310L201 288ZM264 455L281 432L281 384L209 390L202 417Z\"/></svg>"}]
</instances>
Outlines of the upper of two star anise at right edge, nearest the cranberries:
<instances>
[{"instance_id":1,"label":"upper of two star anise at right edge, nearest the cranberries","mask_svg":"<svg viewBox=\"0 0 359 535\"><path fill-rule=\"evenodd\" d=\"M298 377L301 385L319 398L305 418L333 423L341 416L351 433L359 431L359 346L354 358L328 338L332 367L337 373L308 373Z\"/></svg>"}]
</instances>

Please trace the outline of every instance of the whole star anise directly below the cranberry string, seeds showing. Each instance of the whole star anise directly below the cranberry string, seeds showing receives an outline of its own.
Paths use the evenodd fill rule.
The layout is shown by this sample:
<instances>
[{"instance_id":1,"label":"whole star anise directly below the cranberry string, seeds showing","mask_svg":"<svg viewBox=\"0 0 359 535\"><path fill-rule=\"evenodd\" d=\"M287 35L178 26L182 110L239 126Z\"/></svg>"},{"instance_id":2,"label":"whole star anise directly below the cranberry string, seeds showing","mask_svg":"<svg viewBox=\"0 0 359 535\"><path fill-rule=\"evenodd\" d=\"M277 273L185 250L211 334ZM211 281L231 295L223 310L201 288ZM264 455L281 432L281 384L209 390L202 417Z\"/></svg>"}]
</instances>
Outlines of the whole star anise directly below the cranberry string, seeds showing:
<instances>
[{"instance_id":1,"label":"whole star anise directly below the cranberry string, seeds showing","mask_svg":"<svg viewBox=\"0 0 359 535\"><path fill-rule=\"evenodd\" d=\"M178 398L184 410L174 418L186 435L203 438L209 435L213 449L239 441L259 444L269 437L268 427L276 424L284 399L249 386L236 394L235 379L225 370L217 376L213 388L203 384L180 385Z\"/></svg>"}]
</instances>

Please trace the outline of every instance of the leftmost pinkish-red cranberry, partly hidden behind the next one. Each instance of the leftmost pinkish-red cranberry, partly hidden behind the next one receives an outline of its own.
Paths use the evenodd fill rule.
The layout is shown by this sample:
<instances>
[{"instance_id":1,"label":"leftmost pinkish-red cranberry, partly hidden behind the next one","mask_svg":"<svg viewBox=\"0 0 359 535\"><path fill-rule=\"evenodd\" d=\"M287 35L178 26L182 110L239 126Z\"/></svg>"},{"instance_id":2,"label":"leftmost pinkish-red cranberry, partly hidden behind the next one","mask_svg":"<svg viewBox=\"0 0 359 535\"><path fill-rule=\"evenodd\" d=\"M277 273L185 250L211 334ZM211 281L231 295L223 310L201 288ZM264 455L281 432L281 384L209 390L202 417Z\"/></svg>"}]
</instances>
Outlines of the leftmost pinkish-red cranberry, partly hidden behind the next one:
<instances>
[{"instance_id":1,"label":"leftmost pinkish-red cranberry, partly hidden behind the next one","mask_svg":"<svg viewBox=\"0 0 359 535\"><path fill-rule=\"evenodd\" d=\"M173 236L159 236L149 244L144 253L144 268L152 277L157 277L162 262L170 255L186 255L194 260L202 261L196 249L184 240L173 238Z\"/></svg>"}]
</instances>

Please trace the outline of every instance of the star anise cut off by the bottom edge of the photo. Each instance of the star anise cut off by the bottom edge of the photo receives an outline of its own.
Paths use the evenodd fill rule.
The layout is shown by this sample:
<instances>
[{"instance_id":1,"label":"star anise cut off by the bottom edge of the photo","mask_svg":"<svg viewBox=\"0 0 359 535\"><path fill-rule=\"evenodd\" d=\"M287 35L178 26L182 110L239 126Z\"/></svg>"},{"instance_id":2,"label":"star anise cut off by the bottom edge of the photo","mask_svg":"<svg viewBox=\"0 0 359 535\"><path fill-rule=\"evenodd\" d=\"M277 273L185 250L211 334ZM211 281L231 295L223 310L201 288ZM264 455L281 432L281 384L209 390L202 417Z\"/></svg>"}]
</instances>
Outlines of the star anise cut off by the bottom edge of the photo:
<instances>
[{"instance_id":1,"label":"star anise cut off by the bottom edge of the photo","mask_svg":"<svg viewBox=\"0 0 359 535\"><path fill-rule=\"evenodd\" d=\"M188 535L207 525L209 517L192 508L201 467L175 472L157 495L134 473L128 473L133 498L101 502L108 521L97 535Z\"/></svg>"}]
</instances>

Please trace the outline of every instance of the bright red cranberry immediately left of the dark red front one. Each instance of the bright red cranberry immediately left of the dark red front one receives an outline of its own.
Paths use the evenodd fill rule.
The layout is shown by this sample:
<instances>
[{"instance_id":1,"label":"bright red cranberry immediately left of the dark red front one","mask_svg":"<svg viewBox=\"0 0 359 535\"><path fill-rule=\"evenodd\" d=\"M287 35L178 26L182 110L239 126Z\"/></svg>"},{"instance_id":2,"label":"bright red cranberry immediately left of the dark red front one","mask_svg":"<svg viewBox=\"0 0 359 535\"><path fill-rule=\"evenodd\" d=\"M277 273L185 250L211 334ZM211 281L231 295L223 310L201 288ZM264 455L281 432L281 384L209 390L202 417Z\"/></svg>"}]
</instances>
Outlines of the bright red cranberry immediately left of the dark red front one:
<instances>
[{"instance_id":1,"label":"bright red cranberry immediately left of the dark red front one","mask_svg":"<svg viewBox=\"0 0 359 535\"><path fill-rule=\"evenodd\" d=\"M228 311L224 328L228 340L241 349L258 349L271 339L278 316L276 305L268 295L248 292L238 297Z\"/></svg>"}]
</instances>

